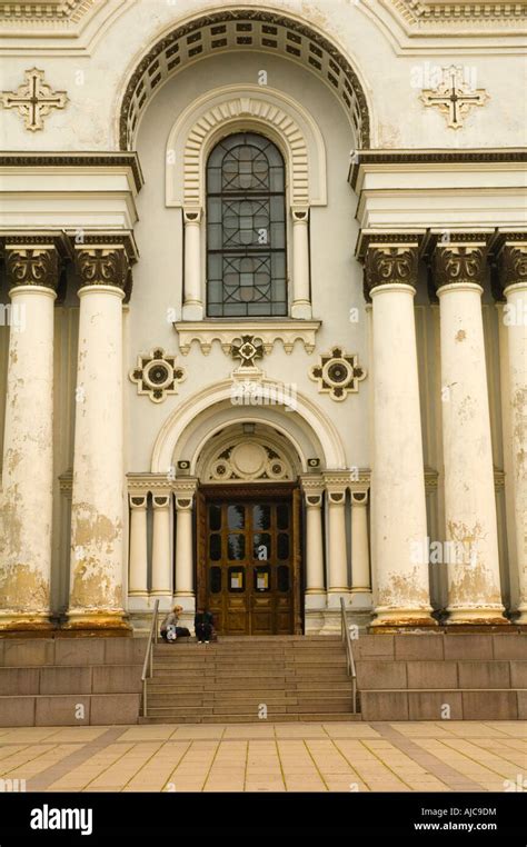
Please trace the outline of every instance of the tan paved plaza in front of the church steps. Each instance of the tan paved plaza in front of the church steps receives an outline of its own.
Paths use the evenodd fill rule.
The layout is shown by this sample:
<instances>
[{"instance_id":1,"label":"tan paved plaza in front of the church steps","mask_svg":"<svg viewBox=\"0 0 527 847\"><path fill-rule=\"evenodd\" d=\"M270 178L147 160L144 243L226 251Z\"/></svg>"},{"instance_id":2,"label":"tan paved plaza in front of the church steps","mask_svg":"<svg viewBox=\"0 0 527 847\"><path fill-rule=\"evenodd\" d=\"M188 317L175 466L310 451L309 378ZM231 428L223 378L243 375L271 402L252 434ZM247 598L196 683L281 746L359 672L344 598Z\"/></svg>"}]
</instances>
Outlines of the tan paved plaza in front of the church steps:
<instances>
[{"instance_id":1,"label":"tan paved plaza in front of the church steps","mask_svg":"<svg viewBox=\"0 0 527 847\"><path fill-rule=\"evenodd\" d=\"M525 790L527 721L4 728L0 766L27 791Z\"/></svg>"}]
</instances>

